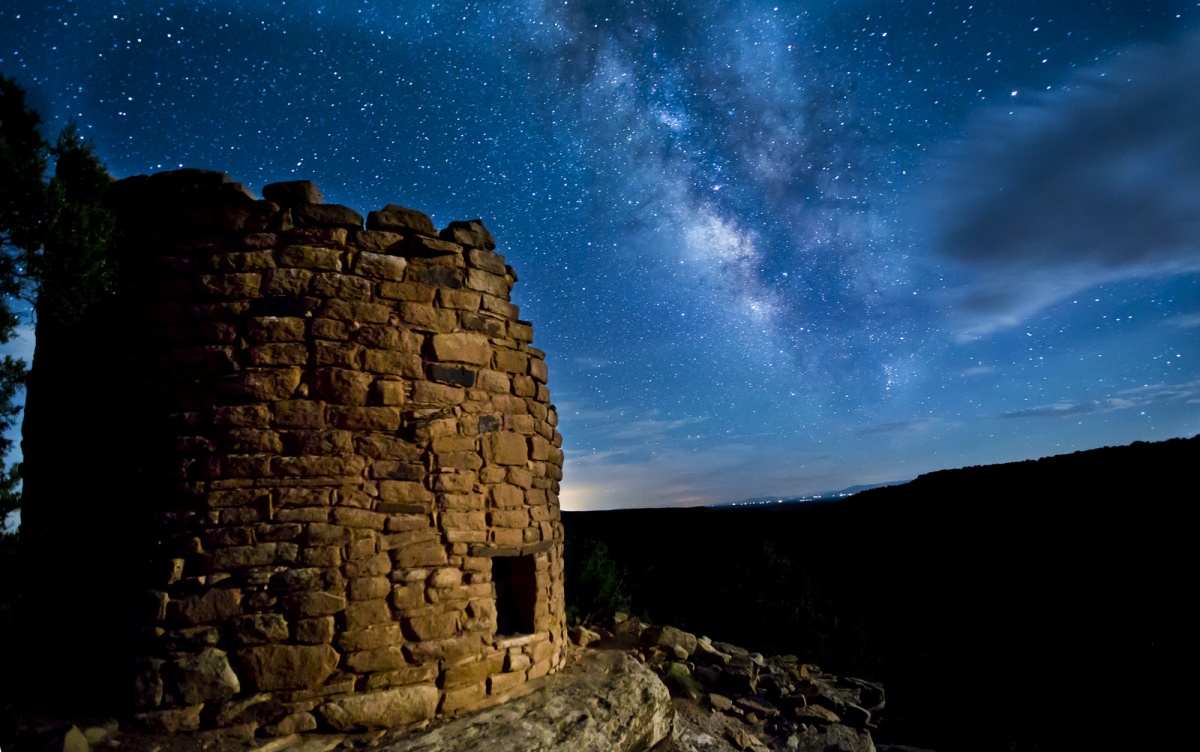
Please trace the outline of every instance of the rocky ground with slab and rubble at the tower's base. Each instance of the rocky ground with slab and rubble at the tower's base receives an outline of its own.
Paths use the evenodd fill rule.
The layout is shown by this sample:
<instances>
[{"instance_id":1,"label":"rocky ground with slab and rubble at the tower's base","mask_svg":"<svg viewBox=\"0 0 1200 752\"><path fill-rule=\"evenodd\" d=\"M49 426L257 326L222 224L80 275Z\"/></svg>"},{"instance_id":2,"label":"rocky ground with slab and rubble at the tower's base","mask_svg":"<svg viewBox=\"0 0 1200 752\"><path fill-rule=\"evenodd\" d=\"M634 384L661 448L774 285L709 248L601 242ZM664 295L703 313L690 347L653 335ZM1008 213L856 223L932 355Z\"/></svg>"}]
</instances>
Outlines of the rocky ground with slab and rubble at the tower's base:
<instances>
[{"instance_id":1,"label":"rocky ground with slab and rubble at the tower's base","mask_svg":"<svg viewBox=\"0 0 1200 752\"><path fill-rule=\"evenodd\" d=\"M418 732L256 739L154 735L115 721L19 718L18 752L920 752L876 746L876 682L617 614L571 630L568 667L521 697ZM8 744L4 748L10 748Z\"/></svg>"}]
</instances>

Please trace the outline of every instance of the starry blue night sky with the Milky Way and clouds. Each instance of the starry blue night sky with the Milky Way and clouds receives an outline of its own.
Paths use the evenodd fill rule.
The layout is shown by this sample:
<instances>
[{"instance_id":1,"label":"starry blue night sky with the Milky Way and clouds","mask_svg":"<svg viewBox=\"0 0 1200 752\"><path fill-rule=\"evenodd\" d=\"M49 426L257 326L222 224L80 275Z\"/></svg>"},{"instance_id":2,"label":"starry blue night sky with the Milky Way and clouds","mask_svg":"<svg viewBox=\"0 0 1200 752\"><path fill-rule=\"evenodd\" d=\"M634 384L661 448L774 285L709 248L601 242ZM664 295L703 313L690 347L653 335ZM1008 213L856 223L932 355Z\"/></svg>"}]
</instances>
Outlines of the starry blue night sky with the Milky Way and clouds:
<instances>
[{"instance_id":1,"label":"starry blue night sky with the Milky Way and clouds","mask_svg":"<svg viewBox=\"0 0 1200 752\"><path fill-rule=\"evenodd\" d=\"M564 509L1200 432L1195 0L6 0L0 73L116 176L481 217Z\"/></svg>"}]
</instances>

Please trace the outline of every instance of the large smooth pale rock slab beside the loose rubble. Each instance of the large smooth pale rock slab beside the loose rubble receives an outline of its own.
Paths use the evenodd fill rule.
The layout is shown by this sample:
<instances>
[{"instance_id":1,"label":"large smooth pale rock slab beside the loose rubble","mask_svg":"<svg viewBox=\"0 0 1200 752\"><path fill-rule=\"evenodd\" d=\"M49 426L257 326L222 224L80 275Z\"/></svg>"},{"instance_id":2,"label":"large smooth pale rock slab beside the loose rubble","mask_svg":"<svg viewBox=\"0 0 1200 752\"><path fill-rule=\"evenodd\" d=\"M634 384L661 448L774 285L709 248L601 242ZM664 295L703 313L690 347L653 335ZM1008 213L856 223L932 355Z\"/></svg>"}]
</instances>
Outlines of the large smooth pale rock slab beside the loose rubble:
<instances>
[{"instance_id":1,"label":"large smooth pale rock slab beside the loose rubble","mask_svg":"<svg viewBox=\"0 0 1200 752\"><path fill-rule=\"evenodd\" d=\"M635 752L671 734L654 672L620 650L588 650L523 697L377 747L379 752Z\"/></svg>"}]
</instances>

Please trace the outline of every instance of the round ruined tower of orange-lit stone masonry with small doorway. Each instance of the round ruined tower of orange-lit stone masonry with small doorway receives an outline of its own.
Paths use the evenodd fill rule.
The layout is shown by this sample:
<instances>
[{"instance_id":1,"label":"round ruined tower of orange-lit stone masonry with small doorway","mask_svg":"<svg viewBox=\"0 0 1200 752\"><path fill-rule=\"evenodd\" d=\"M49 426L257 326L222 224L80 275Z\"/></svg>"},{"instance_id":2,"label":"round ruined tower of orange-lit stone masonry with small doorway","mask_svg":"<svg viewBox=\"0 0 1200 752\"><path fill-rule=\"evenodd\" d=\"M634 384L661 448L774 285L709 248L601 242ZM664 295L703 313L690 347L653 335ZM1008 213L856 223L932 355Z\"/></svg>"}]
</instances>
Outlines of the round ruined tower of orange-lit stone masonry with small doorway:
<instances>
[{"instance_id":1,"label":"round ruined tower of orange-lit stone masonry with small doorway","mask_svg":"<svg viewBox=\"0 0 1200 752\"><path fill-rule=\"evenodd\" d=\"M115 194L173 426L140 720L403 727L559 667L562 437L491 233L200 170Z\"/></svg>"}]
</instances>

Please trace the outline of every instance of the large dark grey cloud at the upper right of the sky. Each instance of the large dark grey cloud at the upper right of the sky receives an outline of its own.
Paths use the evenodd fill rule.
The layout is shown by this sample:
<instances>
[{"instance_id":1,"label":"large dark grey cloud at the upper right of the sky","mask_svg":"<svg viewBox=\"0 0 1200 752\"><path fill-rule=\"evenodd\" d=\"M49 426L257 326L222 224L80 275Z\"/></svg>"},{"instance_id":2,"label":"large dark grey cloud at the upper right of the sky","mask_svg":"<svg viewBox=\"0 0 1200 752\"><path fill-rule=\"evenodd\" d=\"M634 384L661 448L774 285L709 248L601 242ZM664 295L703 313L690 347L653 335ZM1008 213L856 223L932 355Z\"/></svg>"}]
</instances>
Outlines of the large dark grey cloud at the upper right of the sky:
<instances>
[{"instance_id":1,"label":"large dark grey cloud at the upper right of the sky","mask_svg":"<svg viewBox=\"0 0 1200 752\"><path fill-rule=\"evenodd\" d=\"M970 339L1079 290L1200 271L1200 36L1127 52L991 110L946 156L925 210Z\"/></svg>"}]
</instances>

